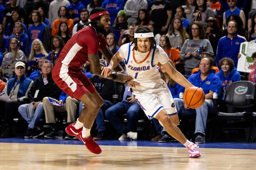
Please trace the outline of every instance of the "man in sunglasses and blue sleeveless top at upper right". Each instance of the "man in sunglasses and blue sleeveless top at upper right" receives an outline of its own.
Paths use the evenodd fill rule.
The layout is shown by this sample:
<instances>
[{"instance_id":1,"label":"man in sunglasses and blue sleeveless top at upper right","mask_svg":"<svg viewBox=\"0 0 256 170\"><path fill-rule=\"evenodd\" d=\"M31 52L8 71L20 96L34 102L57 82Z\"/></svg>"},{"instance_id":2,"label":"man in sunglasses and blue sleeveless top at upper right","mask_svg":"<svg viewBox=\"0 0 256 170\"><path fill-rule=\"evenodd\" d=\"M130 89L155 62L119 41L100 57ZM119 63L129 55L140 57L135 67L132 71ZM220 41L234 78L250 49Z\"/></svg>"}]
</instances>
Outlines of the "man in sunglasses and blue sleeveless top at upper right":
<instances>
[{"instance_id":1,"label":"man in sunglasses and blue sleeveless top at upper right","mask_svg":"<svg viewBox=\"0 0 256 170\"><path fill-rule=\"evenodd\" d=\"M228 0L229 10L223 13L223 25L226 24L226 20L229 15L238 15L243 21L243 28L245 28L245 14L244 11L236 7L237 0Z\"/></svg>"}]
</instances>

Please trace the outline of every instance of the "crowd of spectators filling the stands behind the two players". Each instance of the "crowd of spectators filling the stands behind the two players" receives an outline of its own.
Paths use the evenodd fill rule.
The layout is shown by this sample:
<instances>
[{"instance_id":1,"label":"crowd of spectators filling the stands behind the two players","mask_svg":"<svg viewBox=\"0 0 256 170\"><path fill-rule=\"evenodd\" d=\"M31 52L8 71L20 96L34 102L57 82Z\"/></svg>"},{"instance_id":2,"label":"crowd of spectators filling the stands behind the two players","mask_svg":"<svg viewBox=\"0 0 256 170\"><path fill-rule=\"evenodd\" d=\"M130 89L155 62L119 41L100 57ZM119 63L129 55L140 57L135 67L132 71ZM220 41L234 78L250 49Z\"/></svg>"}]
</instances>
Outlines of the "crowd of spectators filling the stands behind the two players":
<instances>
[{"instance_id":1,"label":"crowd of spectators filling the stands behind the two players","mask_svg":"<svg viewBox=\"0 0 256 170\"><path fill-rule=\"evenodd\" d=\"M105 38L113 54L123 44L133 41L136 26L148 26L173 67L189 76L193 85L204 89L204 105L188 109L179 99L179 92L184 92L184 88L166 76L159 65L178 113L196 115L196 142L205 142L207 113L218 109L211 100L213 92L224 100L228 86L241 80L240 74L255 83L255 70L250 75L236 71L241 43L256 42L254 0L27 0L18 3L17 0L0 2L0 92L5 91L10 98L0 101L1 137L12 136L13 118L19 115L28 122L25 138L44 135L37 126L42 117L52 127L44 137L57 137L55 112L67 112L68 123L76 121L84 105L56 86L51 71L68 40L90 21L89 14L94 8L105 8L110 14L112 33ZM108 65L100 52L99 56L101 65ZM256 68L256 53L252 54L252 60L252 67ZM92 76L90 61L81 67L88 77ZM127 137L136 140L142 111L128 87L123 100L115 104L112 95L116 94L116 82L98 76L90 80L104 100L96 117L98 135L94 139L106 139L104 119L107 119L120 133L119 140ZM52 105L53 101L60 106ZM35 110L33 115L28 113L30 103ZM120 119L124 114L126 126ZM171 137L165 129L161 129L159 122L154 123L159 136L152 141L169 141Z\"/></svg>"}]
</instances>

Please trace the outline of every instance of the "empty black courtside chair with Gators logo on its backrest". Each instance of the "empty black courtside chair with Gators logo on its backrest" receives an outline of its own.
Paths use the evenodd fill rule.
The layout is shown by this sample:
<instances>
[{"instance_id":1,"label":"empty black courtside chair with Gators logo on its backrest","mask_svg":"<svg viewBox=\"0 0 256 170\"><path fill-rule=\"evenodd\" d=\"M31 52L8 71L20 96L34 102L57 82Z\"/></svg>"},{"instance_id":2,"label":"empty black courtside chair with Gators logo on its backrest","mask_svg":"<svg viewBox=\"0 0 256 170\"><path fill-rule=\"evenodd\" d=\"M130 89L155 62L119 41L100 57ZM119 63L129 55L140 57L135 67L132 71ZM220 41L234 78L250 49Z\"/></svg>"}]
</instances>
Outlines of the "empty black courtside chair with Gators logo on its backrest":
<instances>
[{"instance_id":1,"label":"empty black courtside chair with Gators logo on its backrest","mask_svg":"<svg viewBox=\"0 0 256 170\"><path fill-rule=\"evenodd\" d=\"M245 95L252 95L250 101L245 100ZM226 96L225 105L228 112L217 113L217 132L218 139L220 136L226 137L232 132L241 132L244 130L246 141L249 141L250 130L252 129L252 111L255 103L255 85L249 81L237 81L229 85ZM239 139L240 140L240 139Z\"/></svg>"}]
</instances>

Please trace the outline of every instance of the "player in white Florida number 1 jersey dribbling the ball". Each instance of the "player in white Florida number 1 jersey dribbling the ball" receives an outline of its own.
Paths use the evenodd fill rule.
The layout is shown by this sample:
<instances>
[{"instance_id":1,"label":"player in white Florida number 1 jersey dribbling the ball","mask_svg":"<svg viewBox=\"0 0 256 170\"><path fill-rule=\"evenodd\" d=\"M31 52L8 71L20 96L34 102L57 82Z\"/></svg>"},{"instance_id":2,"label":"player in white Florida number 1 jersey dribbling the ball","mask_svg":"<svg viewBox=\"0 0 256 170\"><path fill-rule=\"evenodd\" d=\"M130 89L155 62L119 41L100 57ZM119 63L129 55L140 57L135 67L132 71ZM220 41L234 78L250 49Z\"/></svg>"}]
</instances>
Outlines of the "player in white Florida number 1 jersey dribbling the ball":
<instances>
[{"instance_id":1,"label":"player in white Florida number 1 jersey dribbling the ball","mask_svg":"<svg viewBox=\"0 0 256 170\"><path fill-rule=\"evenodd\" d=\"M188 141L177 127L179 118L172 94L161 79L161 73L156 68L157 63L160 62L164 70L178 84L185 88L193 85L168 62L167 54L156 45L154 34L149 27L139 26L134 34L134 41L120 47L110 60L109 66L101 68L101 75L108 77L123 58L126 61L128 75L134 78L128 81L127 85L132 87L133 97L148 118L158 119L172 137L188 148L190 158L200 157L197 144Z\"/></svg>"}]
</instances>

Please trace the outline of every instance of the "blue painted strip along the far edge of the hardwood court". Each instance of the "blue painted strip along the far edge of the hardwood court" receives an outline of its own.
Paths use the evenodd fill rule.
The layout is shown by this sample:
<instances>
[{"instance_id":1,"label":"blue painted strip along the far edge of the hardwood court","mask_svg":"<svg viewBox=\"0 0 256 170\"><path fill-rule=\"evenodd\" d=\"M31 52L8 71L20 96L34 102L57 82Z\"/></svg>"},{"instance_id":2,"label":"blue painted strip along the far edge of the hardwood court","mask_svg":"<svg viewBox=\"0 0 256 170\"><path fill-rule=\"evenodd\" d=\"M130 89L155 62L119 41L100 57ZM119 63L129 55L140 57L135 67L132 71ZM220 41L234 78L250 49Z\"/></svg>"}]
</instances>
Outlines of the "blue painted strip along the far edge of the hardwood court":
<instances>
[{"instance_id":1,"label":"blue painted strip along the far edge of the hardwood court","mask_svg":"<svg viewBox=\"0 0 256 170\"><path fill-rule=\"evenodd\" d=\"M179 142L158 143L145 140L138 141L119 141L119 140L102 140L96 141L99 145L106 146L148 146L148 147L184 147ZM79 140L65 139L25 139L23 137L0 138L0 143L26 143L26 144L79 144L83 143ZM1 144L0 144L1 145ZM256 149L256 143L246 142L212 142L198 144L200 148L220 148L220 149Z\"/></svg>"}]
</instances>

